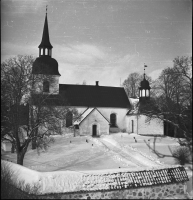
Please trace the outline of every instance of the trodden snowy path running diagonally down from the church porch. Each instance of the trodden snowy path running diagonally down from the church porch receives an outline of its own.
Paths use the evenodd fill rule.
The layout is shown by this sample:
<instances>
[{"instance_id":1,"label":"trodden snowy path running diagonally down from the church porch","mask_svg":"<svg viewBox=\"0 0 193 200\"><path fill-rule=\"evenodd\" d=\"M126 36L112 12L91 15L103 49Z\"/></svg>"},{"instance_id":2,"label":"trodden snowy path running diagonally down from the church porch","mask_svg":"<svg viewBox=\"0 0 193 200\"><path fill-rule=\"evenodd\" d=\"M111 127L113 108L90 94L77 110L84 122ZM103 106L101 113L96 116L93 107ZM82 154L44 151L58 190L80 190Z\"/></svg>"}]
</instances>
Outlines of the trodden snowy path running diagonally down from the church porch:
<instances>
[{"instance_id":1,"label":"trodden snowy path running diagonally down from the church porch","mask_svg":"<svg viewBox=\"0 0 193 200\"><path fill-rule=\"evenodd\" d=\"M132 163L135 163L139 168L160 166L158 163L155 163L154 161L148 159L147 157L144 157L137 151L120 147L119 144L116 141L114 141L112 138L109 140L109 138L102 137L99 140L109 150L115 152L124 160L128 160Z\"/></svg>"}]
</instances>

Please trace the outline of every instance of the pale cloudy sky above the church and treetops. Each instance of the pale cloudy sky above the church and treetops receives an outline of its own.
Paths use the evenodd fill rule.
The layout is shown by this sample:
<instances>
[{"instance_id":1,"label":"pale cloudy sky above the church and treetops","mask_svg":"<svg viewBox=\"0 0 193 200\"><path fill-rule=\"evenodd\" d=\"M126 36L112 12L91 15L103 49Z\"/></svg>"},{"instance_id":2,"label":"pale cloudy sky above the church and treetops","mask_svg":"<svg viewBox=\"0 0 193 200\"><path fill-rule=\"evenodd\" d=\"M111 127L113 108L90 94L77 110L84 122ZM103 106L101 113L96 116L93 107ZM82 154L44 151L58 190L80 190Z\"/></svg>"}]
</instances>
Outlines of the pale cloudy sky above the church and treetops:
<instances>
[{"instance_id":1,"label":"pale cloudy sky above the church and treetops","mask_svg":"<svg viewBox=\"0 0 193 200\"><path fill-rule=\"evenodd\" d=\"M46 5L60 83L119 87L144 63L155 79L192 55L191 0L2 0L2 61L38 57Z\"/></svg>"}]
</instances>

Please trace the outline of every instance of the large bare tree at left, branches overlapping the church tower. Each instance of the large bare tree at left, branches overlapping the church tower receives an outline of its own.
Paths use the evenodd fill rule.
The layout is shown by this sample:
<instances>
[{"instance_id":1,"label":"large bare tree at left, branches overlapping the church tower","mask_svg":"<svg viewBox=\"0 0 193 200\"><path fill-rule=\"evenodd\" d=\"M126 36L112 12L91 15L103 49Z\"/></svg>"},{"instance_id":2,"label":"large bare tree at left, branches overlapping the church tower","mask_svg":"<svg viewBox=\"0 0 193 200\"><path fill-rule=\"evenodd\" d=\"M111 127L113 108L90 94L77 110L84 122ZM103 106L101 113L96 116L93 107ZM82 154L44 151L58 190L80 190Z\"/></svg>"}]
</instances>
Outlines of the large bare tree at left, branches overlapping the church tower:
<instances>
[{"instance_id":1,"label":"large bare tree at left, branches overlapping the church tower","mask_svg":"<svg viewBox=\"0 0 193 200\"><path fill-rule=\"evenodd\" d=\"M41 83L44 78L52 81L52 77L34 76L33 62L32 56L20 55L1 64L1 107L4 108L1 141L7 140L15 147L20 165L32 141L34 148L37 145L46 149L53 141L50 135L61 133L61 120L65 121L66 114L71 111L75 117L78 115L60 95L43 92L42 84L38 94L35 93L36 82ZM24 115L25 110L27 115Z\"/></svg>"}]
</instances>

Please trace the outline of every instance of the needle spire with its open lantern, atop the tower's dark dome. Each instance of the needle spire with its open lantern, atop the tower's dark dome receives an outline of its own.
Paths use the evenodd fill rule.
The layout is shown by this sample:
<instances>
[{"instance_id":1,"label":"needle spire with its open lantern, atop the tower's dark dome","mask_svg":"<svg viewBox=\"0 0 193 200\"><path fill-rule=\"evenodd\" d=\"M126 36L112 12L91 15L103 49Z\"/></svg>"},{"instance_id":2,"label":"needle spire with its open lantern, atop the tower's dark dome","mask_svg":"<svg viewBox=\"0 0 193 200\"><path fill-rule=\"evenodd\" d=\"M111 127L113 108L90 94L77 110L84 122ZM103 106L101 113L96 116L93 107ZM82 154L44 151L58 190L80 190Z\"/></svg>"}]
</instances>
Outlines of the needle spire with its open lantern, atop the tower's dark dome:
<instances>
[{"instance_id":1,"label":"needle spire with its open lantern, atop the tower's dark dome","mask_svg":"<svg viewBox=\"0 0 193 200\"><path fill-rule=\"evenodd\" d=\"M42 35L42 41L39 48L39 56L48 55L51 56L51 49L53 46L50 43L49 38L49 30L48 30L48 19L47 19L47 6L46 6L46 17L44 22L44 29L43 29L43 35Z\"/></svg>"}]
</instances>

